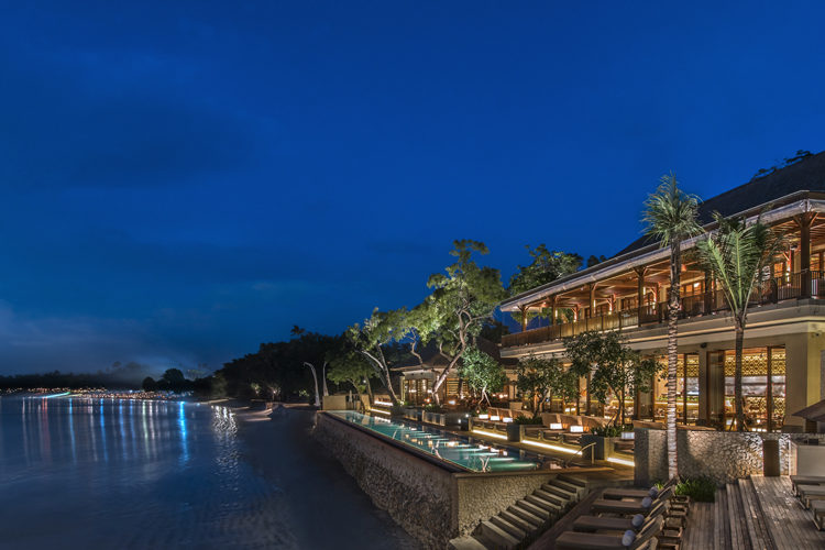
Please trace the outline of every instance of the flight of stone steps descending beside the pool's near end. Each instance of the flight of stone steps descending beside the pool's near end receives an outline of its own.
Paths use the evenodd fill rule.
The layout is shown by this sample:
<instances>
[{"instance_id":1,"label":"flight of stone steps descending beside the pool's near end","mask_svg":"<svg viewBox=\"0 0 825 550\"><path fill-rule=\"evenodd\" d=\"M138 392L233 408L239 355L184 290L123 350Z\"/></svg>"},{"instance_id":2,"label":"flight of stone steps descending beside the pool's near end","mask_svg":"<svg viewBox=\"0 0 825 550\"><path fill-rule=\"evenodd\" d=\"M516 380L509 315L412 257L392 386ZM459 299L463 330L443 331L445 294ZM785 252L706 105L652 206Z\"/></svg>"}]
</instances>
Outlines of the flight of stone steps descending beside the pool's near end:
<instances>
[{"instance_id":1,"label":"flight of stone steps descending beside the pool's near end","mask_svg":"<svg viewBox=\"0 0 825 550\"><path fill-rule=\"evenodd\" d=\"M506 510L482 521L465 537L450 541L455 550L510 550L553 525L587 492L587 482L560 474Z\"/></svg>"}]
</instances>

